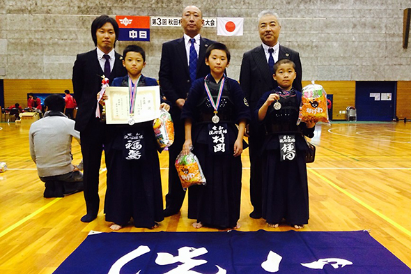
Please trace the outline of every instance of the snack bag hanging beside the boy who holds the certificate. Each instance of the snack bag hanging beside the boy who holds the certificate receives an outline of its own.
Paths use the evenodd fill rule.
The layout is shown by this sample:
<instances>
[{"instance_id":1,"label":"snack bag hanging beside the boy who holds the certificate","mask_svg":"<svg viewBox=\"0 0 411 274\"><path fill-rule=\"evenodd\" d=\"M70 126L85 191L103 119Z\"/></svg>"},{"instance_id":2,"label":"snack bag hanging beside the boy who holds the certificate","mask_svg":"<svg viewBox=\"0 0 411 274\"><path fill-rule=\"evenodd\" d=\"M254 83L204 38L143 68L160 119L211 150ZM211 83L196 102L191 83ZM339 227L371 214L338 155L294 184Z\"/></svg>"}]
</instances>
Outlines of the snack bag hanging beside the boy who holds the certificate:
<instances>
[{"instance_id":1,"label":"snack bag hanging beside the boy who holds the certificate","mask_svg":"<svg viewBox=\"0 0 411 274\"><path fill-rule=\"evenodd\" d=\"M160 148L164 149L173 144L174 125L169 112L160 109L160 117L153 121L153 129Z\"/></svg>"}]
</instances>

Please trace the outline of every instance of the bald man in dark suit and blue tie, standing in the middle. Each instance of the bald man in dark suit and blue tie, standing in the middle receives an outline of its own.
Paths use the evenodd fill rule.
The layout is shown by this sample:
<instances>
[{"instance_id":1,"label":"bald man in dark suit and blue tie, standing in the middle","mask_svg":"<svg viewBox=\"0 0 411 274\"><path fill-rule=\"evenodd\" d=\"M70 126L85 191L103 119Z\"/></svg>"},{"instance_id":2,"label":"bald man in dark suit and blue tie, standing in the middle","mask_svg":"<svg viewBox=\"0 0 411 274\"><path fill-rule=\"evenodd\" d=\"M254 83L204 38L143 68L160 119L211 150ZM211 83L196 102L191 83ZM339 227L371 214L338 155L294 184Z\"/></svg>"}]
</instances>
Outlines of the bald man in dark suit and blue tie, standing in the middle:
<instances>
[{"instance_id":1,"label":"bald man in dark suit and blue tie, standing in the middle","mask_svg":"<svg viewBox=\"0 0 411 274\"><path fill-rule=\"evenodd\" d=\"M181 18L183 38L171 40L162 46L160 86L167 100L173 104L171 117L175 130L174 143L169 148L169 193L166 195L164 209L166 217L180 211L185 197L185 191L174 168L174 162L185 140L184 124L180 121L181 109L192 82L210 73L204 57L207 47L215 42L200 36L203 24L201 10L196 6L187 6Z\"/></svg>"}]
</instances>

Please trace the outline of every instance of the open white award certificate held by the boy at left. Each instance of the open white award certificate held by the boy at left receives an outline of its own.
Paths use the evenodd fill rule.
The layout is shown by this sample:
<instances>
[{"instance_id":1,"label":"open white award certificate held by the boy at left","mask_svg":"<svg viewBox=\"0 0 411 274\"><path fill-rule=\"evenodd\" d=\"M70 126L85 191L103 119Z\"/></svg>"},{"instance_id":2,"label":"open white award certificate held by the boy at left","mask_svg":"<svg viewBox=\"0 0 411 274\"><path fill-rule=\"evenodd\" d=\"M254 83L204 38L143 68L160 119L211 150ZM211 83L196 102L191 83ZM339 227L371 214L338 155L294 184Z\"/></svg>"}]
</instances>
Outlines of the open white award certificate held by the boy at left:
<instances>
[{"instance_id":1,"label":"open white award certificate held by the boy at left","mask_svg":"<svg viewBox=\"0 0 411 274\"><path fill-rule=\"evenodd\" d=\"M106 94L107 124L133 125L160 116L160 86L139 86L132 96L126 86L109 86Z\"/></svg>"}]
</instances>

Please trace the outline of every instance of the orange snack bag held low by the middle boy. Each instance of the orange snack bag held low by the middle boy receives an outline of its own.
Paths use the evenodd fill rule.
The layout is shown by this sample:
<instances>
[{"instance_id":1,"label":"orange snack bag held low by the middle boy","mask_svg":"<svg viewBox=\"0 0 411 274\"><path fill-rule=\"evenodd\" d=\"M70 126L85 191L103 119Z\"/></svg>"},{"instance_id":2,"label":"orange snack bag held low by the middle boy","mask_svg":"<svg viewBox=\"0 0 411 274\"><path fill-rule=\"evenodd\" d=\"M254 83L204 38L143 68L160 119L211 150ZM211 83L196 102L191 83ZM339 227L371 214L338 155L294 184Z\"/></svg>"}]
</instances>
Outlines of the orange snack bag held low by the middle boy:
<instances>
[{"instance_id":1,"label":"orange snack bag held low by the middle boy","mask_svg":"<svg viewBox=\"0 0 411 274\"><path fill-rule=\"evenodd\" d=\"M192 185L206 184L206 177L201 170L199 159L191 151L187 155L180 152L176 158L175 166L184 189Z\"/></svg>"}]
</instances>

